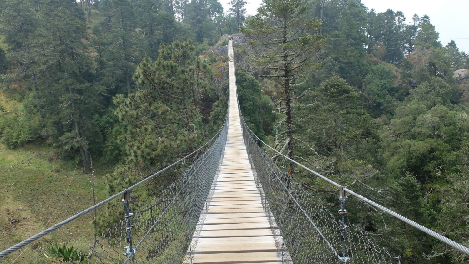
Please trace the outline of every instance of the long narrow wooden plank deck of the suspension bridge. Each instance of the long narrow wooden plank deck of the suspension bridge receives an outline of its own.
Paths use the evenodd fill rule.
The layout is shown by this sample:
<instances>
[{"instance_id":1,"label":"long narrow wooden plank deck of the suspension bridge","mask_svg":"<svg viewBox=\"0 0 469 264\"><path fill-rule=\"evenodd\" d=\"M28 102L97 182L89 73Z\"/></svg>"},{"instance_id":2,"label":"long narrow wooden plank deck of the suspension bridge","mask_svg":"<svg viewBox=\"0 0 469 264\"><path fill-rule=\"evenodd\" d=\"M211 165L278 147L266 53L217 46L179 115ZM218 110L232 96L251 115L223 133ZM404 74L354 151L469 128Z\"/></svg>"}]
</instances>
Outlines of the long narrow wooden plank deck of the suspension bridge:
<instances>
[{"instance_id":1,"label":"long narrow wooden plank deck of the suspension bridge","mask_svg":"<svg viewBox=\"0 0 469 264\"><path fill-rule=\"evenodd\" d=\"M233 58L232 41L228 50ZM242 137L234 64L229 62L227 145L192 263L281 263ZM277 233L277 232L276 232ZM277 238L278 239L278 238Z\"/></svg>"}]
</instances>

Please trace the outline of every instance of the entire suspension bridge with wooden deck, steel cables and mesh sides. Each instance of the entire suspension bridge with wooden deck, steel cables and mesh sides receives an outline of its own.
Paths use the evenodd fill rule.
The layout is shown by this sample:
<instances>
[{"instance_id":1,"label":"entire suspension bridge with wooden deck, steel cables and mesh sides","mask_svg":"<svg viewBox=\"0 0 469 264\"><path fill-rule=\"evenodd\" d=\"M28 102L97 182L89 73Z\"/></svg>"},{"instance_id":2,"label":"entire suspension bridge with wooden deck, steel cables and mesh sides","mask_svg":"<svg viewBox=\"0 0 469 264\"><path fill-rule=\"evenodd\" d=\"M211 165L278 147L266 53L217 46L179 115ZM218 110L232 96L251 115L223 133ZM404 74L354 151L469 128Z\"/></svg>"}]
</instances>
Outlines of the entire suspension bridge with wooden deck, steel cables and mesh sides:
<instances>
[{"instance_id":1,"label":"entire suspension bridge with wooden deck, steel cables and mesh sides","mask_svg":"<svg viewBox=\"0 0 469 264\"><path fill-rule=\"evenodd\" d=\"M469 255L469 249L341 186L268 146L242 119L232 38L228 39L229 105L216 136L188 156L143 181L0 252L23 247L106 205L122 208L93 238L89 252L70 263L96 264L380 264L402 262L386 241L348 223L349 197L413 226ZM259 142L264 149L259 148ZM283 171L269 153L283 157ZM186 167L186 160L198 157ZM331 211L321 197L287 176L285 161L337 188L340 209ZM181 179L143 204L131 193L163 173L182 166ZM15 257L15 254L10 255ZM11 261L11 260L10 260Z\"/></svg>"}]
</instances>

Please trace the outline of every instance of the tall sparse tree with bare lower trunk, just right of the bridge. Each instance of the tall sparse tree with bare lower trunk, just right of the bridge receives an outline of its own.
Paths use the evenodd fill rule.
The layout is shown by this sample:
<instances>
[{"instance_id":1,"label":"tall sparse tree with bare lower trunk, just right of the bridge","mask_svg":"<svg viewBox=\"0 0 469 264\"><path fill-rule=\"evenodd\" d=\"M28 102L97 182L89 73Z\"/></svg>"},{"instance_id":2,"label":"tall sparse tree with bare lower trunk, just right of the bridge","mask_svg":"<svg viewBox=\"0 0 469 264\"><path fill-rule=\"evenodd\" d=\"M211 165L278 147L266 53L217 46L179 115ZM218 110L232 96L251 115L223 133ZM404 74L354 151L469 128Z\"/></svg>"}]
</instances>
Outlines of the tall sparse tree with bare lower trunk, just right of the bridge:
<instances>
[{"instance_id":1,"label":"tall sparse tree with bare lower trunk, just right of the bridge","mask_svg":"<svg viewBox=\"0 0 469 264\"><path fill-rule=\"evenodd\" d=\"M308 4L303 0L264 0L257 8L258 14L241 27L241 32L250 38L246 51L251 64L261 75L278 81L283 88L283 97L278 100L278 109L285 114L280 126L285 131L277 134L278 144L287 156L294 159L292 111L295 96L292 91L303 81L303 73L311 69L311 57L322 48L323 37L317 34L321 22L307 19ZM294 163L289 171L293 173Z\"/></svg>"}]
</instances>

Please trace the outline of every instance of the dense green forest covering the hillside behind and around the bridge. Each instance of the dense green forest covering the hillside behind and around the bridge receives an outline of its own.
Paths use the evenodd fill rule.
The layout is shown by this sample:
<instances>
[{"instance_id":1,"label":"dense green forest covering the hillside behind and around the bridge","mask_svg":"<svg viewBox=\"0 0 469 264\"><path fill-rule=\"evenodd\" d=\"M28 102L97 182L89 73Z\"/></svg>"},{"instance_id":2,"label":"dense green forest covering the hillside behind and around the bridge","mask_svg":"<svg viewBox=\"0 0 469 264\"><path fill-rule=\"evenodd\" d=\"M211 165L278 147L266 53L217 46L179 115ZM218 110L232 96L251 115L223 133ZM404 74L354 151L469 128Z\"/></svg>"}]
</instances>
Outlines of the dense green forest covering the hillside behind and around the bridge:
<instances>
[{"instance_id":1,"label":"dense green forest covering the hillside behind and around the bridge","mask_svg":"<svg viewBox=\"0 0 469 264\"><path fill-rule=\"evenodd\" d=\"M246 4L0 0L0 92L10 102L0 102L1 143L46 145L64 160L79 158L84 173L92 157L113 167L106 177L114 194L218 131L234 36L240 106L252 131L468 246L469 55L453 40L441 43L425 14L376 12L360 0L264 0L248 16ZM279 34L281 44L268 41ZM339 206L330 186L289 169ZM147 194L174 177L162 174ZM468 261L370 208L349 215L392 237L386 246L403 263Z\"/></svg>"}]
</instances>

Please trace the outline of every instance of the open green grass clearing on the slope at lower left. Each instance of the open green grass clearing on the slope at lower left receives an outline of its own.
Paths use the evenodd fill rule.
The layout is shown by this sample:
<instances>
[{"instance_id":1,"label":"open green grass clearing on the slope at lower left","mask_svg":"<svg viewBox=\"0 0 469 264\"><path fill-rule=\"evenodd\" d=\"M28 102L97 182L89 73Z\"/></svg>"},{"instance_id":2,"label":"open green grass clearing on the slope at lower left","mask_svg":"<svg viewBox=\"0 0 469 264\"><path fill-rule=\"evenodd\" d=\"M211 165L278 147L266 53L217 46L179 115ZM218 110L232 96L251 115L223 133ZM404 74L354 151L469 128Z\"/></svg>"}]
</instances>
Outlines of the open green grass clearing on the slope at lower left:
<instances>
[{"instance_id":1,"label":"open green grass clearing on the slope at lower left","mask_svg":"<svg viewBox=\"0 0 469 264\"><path fill-rule=\"evenodd\" d=\"M72 180L76 157L52 161L56 157L55 153L45 146L28 145L8 149L0 144L0 250L37 234L52 216L47 227L92 205L89 175L83 173L81 161ZM107 197L103 176L109 169L95 166L97 201ZM69 183L70 188L64 196ZM93 238L91 220L92 213L89 213L34 242L15 263L54 263L54 260L46 259L43 252L47 244L55 242L67 242L69 246L88 252L88 244ZM23 250L1 259L0 263L12 263Z\"/></svg>"}]
</instances>

